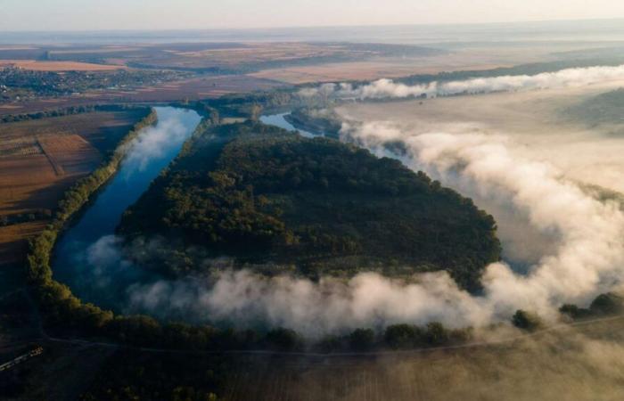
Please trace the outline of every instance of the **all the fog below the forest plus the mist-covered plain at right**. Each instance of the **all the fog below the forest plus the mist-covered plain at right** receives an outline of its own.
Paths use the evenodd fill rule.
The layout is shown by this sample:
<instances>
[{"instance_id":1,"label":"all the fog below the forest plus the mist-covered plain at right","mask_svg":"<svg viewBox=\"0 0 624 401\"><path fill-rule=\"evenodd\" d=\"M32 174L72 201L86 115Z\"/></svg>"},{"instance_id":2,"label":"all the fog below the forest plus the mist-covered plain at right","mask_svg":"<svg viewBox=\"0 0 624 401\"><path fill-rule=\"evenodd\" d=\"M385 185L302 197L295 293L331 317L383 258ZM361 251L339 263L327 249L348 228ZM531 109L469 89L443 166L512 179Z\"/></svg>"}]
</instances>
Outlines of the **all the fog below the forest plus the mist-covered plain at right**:
<instances>
[{"instance_id":1,"label":"all the fog below the forest plus the mist-covered plain at right","mask_svg":"<svg viewBox=\"0 0 624 401\"><path fill-rule=\"evenodd\" d=\"M564 111L624 86L593 77L591 85L338 110L346 120L344 139L424 170L496 217L504 260L487 268L480 296L459 290L444 273L409 283L379 274L311 282L225 269L210 279L136 282L126 289L123 309L239 327L286 326L316 336L391 323L487 326L508 321L519 308L554 321L563 303L587 306L624 278L622 206L587 187L624 190L624 135L618 124L588 127ZM401 153L388 150L388 144L400 149L397 143ZM87 250L92 271L114 274L106 266L111 260L124 265L116 243L105 237ZM213 262L227 266L206 261Z\"/></svg>"}]
</instances>

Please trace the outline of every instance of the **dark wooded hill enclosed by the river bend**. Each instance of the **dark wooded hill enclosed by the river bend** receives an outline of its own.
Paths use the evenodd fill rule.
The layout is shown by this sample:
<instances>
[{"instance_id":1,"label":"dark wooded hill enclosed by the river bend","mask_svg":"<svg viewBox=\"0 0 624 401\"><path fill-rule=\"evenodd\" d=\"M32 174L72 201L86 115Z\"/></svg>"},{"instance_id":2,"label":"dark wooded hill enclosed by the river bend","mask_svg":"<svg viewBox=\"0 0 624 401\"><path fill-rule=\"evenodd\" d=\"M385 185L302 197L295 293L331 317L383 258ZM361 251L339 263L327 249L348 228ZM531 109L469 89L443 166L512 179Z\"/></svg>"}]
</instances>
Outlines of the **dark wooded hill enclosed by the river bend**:
<instances>
[{"instance_id":1,"label":"dark wooded hill enclosed by the river bend","mask_svg":"<svg viewBox=\"0 0 624 401\"><path fill-rule=\"evenodd\" d=\"M149 255L132 256L174 276L207 273L221 266L209 260L227 256L312 278L445 269L476 290L500 253L494 219L422 172L252 122L187 143L118 231L128 252L132 241L164 237Z\"/></svg>"}]
</instances>

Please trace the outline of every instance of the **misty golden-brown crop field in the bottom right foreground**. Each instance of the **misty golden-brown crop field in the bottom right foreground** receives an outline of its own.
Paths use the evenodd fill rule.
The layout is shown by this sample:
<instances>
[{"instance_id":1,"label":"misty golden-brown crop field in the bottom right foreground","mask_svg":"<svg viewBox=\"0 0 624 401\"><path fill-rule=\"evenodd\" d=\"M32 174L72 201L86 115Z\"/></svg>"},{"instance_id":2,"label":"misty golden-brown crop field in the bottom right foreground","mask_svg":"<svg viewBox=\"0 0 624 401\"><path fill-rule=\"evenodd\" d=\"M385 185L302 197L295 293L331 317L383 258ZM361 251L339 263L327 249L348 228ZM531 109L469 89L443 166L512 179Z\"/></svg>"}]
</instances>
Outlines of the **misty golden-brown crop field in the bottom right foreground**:
<instances>
[{"instance_id":1,"label":"misty golden-brown crop field in the bottom right foreground","mask_svg":"<svg viewBox=\"0 0 624 401\"><path fill-rule=\"evenodd\" d=\"M234 400L617 400L622 318L486 347L382 356L255 357L234 369ZM513 334L512 334L513 335Z\"/></svg>"}]
</instances>

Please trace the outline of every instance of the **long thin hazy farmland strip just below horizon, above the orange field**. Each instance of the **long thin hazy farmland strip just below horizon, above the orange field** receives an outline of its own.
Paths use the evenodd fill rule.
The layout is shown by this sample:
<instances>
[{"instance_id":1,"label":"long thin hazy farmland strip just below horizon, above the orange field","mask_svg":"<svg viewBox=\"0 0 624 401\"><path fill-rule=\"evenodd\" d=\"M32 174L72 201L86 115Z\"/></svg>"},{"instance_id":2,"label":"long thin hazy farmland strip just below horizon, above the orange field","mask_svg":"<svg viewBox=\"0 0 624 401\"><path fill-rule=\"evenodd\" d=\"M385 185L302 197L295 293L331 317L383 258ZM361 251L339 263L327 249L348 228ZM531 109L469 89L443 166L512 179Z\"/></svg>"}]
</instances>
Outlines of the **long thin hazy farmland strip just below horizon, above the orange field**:
<instances>
[{"instance_id":1,"label":"long thin hazy farmland strip just below horizon, above the orange field","mask_svg":"<svg viewBox=\"0 0 624 401\"><path fill-rule=\"evenodd\" d=\"M341 42L229 42L160 45L4 47L0 60L82 61L186 70L256 70L266 65L362 60L377 56L421 57L445 53L418 45Z\"/></svg>"}]
</instances>

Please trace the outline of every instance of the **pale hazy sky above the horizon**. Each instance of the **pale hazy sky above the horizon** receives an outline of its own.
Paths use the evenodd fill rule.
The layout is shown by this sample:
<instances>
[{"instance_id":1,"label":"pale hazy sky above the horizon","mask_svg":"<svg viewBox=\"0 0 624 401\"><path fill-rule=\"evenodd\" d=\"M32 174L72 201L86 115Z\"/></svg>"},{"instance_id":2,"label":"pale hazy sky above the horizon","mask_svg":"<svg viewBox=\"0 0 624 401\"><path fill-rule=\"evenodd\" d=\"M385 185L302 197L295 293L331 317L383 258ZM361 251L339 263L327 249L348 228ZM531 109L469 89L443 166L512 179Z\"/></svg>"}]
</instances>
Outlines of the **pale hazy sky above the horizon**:
<instances>
[{"instance_id":1,"label":"pale hazy sky above the horizon","mask_svg":"<svg viewBox=\"0 0 624 401\"><path fill-rule=\"evenodd\" d=\"M624 18L624 0L0 0L0 31Z\"/></svg>"}]
</instances>

